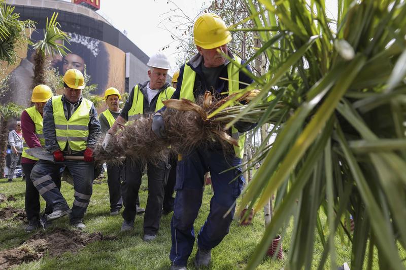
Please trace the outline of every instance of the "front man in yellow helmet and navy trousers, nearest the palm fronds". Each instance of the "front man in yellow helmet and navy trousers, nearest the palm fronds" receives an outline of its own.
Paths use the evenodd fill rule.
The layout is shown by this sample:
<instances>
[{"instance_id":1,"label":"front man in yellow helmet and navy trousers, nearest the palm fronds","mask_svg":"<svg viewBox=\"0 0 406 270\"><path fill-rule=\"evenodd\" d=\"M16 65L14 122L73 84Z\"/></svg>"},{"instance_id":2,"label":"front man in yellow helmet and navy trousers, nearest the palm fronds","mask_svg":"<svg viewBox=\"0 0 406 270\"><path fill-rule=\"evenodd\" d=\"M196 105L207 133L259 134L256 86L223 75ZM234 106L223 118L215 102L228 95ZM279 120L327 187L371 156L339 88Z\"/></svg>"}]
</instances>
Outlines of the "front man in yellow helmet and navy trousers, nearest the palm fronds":
<instances>
[{"instance_id":1,"label":"front man in yellow helmet and navy trousers, nearest the palm fronds","mask_svg":"<svg viewBox=\"0 0 406 270\"><path fill-rule=\"evenodd\" d=\"M253 82L223 56L225 54L236 62L244 63L228 50L227 43L231 41L231 35L219 16L206 13L197 18L193 38L198 54L180 68L177 89L172 98L195 101L205 91L220 98L226 96L223 93L235 93ZM186 269L195 241L193 222L201 206L204 176L208 171L212 177L214 195L209 216L197 238L198 249L194 260L197 268L209 266L211 249L228 234L235 200L240 195L244 181L239 167L243 157L244 132L253 127L251 123L239 121L229 131L239 142L239 147L234 148L234 155L224 152L219 144L214 144L211 147L196 148L187 155L182 155L182 160L178 160L175 185L177 193L171 222L171 269ZM160 112L154 115L152 130L158 136L164 135L165 127Z\"/></svg>"}]
</instances>

